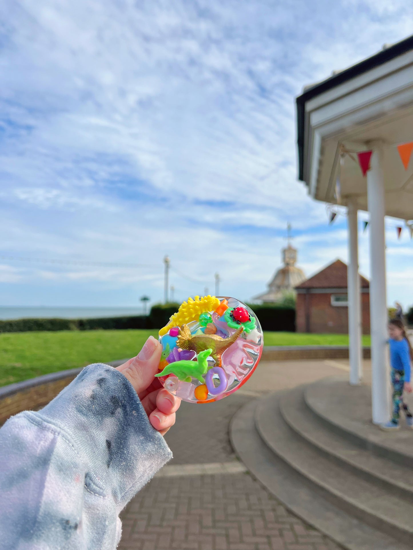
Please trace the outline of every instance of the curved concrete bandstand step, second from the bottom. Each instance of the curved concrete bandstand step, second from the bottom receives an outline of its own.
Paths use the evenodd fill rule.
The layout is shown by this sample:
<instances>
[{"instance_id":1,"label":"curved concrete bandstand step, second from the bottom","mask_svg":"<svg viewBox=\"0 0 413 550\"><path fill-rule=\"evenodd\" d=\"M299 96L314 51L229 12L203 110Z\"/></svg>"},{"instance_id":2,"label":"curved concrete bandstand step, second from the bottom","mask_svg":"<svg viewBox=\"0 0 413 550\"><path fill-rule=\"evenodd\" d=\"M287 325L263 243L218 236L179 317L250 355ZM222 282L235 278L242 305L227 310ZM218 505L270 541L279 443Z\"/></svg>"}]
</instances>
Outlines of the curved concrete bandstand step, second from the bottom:
<instances>
[{"instance_id":1,"label":"curved concrete bandstand step, second from the bottom","mask_svg":"<svg viewBox=\"0 0 413 550\"><path fill-rule=\"evenodd\" d=\"M328 455L297 436L282 419L274 394L260 400L255 419L268 447L307 478L326 499L374 529L413 546L413 503L362 475L343 470Z\"/></svg>"}]
</instances>

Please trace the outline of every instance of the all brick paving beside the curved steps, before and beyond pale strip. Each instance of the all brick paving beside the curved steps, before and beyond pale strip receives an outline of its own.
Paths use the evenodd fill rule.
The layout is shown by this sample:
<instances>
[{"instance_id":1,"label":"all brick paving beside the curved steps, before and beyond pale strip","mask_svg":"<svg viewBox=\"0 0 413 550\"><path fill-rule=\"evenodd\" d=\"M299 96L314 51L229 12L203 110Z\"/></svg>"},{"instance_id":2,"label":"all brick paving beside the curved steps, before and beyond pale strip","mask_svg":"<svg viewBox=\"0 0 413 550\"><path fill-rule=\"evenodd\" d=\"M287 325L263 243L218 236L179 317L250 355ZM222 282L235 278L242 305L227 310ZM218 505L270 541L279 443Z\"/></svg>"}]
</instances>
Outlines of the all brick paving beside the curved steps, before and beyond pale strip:
<instances>
[{"instance_id":1,"label":"all brick paving beside the curved steps, before and beyond pale strip","mask_svg":"<svg viewBox=\"0 0 413 550\"><path fill-rule=\"evenodd\" d=\"M345 361L337 361L346 367ZM213 405L183 403L167 434L172 465L235 460L228 425L240 406L260 393L334 375L328 362L279 362ZM264 370L265 369L265 370ZM265 374L265 377L263 376ZM248 393L250 392L250 393ZM155 477L122 513L119 550L338 550L249 474Z\"/></svg>"}]
</instances>

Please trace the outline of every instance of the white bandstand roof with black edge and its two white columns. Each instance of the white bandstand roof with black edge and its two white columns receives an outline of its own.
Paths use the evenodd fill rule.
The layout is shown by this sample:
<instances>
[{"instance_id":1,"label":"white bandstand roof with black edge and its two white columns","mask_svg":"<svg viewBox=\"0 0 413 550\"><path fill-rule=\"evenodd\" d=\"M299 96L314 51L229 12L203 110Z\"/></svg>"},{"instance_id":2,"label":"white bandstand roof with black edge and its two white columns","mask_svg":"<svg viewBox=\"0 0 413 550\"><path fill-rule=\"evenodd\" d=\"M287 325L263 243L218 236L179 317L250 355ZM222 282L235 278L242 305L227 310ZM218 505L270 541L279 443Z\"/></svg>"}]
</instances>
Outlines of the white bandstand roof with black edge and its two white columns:
<instances>
[{"instance_id":1,"label":"white bandstand roof with black edge and its two white columns","mask_svg":"<svg viewBox=\"0 0 413 550\"><path fill-rule=\"evenodd\" d=\"M319 201L347 206L350 383L360 383L361 313L357 211L370 215L372 417L390 417L384 216L413 218L413 36L307 86L297 97L298 177ZM363 176L357 152L372 151ZM339 183L337 183L339 182Z\"/></svg>"}]
</instances>

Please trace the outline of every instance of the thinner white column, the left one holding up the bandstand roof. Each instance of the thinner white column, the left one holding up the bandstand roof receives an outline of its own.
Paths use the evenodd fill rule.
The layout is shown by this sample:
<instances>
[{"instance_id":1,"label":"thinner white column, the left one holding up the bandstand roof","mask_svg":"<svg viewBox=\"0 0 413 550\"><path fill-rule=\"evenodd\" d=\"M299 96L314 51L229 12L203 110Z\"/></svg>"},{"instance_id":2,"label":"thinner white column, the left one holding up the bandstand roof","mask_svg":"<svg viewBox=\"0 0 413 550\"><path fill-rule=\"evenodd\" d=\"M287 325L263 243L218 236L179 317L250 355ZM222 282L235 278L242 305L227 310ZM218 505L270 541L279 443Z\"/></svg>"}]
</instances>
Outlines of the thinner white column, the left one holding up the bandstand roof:
<instances>
[{"instance_id":1,"label":"thinner white column, the left one holding up the bandstand roof","mask_svg":"<svg viewBox=\"0 0 413 550\"><path fill-rule=\"evenodd\" d=\"M347 295L349 300L349 359L350 384L360 384L363 377L361 347L360 277L358 275L357 201L350 197L347 207L349 227L349 267L347 268Z\"/></svg>"}]
</instances>

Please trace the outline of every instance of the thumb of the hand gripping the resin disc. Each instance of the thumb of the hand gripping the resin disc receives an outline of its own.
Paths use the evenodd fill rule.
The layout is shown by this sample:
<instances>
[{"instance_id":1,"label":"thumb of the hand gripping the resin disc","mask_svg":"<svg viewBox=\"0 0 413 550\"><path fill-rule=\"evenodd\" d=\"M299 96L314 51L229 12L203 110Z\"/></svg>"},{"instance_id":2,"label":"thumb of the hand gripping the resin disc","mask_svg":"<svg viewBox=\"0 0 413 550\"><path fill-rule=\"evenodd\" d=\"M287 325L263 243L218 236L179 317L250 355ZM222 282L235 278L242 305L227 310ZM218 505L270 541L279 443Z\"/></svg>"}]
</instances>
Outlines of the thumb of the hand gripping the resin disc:
<instances>
[{"instance_id":1,"label":"thumb of the hand gripping the resin disc","mask_svg":"<svg viewBox=\"0 0 413 550\"><path fill-rule=\"evenodd\" d=\"M122 372L131 382L135 392L143 392L154 381L161 360L161 353L162 346L160 342L150 336L138 355L117 367L117 370Z\"/></svg>"}]
</instances>

